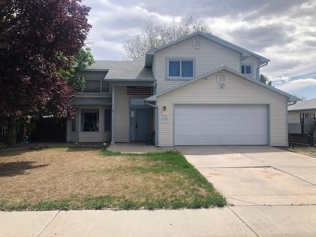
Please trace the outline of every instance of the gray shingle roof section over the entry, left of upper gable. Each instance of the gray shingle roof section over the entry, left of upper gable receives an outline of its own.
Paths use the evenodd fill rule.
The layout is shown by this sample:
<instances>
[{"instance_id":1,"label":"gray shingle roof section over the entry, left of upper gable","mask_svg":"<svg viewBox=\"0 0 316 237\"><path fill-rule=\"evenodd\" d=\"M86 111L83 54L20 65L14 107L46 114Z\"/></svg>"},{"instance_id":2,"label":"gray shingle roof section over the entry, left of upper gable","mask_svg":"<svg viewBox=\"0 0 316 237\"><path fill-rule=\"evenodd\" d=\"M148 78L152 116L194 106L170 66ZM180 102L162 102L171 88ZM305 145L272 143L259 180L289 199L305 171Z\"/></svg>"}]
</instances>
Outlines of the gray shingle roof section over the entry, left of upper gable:
<instances>
[{"instance_id":1,"label":"gray shingle roof section over the entry, left of upper gable","mask_svg":"<svg viewBox=\"0 0 316 237\"><path fill-rule=\"evenodd\" d=\"M145 57L135 58L133 61L101 61L86 69L107 69L105 79L154 79L151 68L145 68Z\"/></svg>"}]
</instances>

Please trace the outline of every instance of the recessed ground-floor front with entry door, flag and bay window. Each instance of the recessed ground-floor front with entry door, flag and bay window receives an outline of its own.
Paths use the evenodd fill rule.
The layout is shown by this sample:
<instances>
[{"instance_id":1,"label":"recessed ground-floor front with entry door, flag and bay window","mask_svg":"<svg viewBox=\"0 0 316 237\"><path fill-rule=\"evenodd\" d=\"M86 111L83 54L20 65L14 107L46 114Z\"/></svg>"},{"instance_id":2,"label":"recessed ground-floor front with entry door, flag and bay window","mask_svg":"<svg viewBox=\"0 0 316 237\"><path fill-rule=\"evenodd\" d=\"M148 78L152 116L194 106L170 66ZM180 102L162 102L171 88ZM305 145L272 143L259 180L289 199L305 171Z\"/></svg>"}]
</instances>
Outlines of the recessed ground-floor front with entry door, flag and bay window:
<instances>
[{"instance_id":1,"label":"recessed ground-floor front with entry door, flag and bay window","mask_svg":"<svg viewBox=\"0 0 316 237\"><path fill-rule=\"evenodd\" d=\"M156 108L145 103L154 90L153 82L112 81L111 95L75 97L76 116L67 122L67 141L145 142L156 131Z\"/></svg>"}]
</instances>

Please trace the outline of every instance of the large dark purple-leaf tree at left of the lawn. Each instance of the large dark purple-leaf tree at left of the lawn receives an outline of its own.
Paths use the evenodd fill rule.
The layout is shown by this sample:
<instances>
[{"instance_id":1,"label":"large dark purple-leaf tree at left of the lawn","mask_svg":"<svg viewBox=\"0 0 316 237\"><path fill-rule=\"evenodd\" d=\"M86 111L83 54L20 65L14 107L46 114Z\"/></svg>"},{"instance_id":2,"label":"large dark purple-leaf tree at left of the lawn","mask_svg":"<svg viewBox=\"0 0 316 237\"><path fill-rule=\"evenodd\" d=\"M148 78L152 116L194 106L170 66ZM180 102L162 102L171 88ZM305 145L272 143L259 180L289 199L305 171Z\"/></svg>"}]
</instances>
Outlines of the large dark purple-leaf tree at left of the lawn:
<instances>
[{"instance_id":1,"label":"large dark purple-leaf tree at left of the lawn","mask_svg":"<svg viewBox=\"0 0 316 237\"><path fill-rule=\"evenodd\" d=\"M8 122L8 145L17 119L73 115L75 87L57 72L84 45L89 10L81 0L0 2L0 122Z\"/></svg>"}]
</instances>

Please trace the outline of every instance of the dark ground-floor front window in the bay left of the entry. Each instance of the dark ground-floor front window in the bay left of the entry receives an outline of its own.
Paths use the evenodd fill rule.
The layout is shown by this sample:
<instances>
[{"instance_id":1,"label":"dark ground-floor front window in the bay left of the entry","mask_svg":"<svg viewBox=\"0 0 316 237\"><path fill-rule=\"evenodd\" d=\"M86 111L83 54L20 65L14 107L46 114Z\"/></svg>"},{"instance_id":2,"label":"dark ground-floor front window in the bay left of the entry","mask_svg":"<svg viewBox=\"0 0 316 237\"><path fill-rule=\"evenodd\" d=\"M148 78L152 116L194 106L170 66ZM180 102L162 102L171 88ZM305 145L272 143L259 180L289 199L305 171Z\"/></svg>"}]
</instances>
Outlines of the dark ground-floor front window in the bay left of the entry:
<instances>
[{"instance_id":1,"label":"dark ground-floor front window in the bay left of the entry","mask_svg":"<svg viewBox=\"0 0 316 237\"><path fill-rule=\"evenodd\" d=\"M81 110L80 118L81 132L99 131L99 110Z\"/></svg>"}]
</instances>

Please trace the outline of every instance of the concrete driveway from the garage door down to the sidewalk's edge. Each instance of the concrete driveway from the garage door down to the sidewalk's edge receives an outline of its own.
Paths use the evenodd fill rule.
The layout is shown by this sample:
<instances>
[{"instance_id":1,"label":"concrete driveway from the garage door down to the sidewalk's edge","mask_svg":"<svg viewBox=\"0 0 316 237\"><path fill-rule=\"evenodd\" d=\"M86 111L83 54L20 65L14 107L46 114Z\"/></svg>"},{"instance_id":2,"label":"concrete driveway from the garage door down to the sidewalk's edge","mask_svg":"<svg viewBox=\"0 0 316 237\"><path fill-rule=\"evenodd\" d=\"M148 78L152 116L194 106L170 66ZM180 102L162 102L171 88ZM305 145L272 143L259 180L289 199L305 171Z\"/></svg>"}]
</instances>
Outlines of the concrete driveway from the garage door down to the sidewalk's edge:
<instances>
[{"instance_id":1,"label":"concrete driveway from the garage door down to the sidewalk's edge","mask_svg":"<svg viewBox=\"0 0 316 237\"><path fill-rule=\"evenodd\" d=\"M234 205L316 204L316 158L268 146L178 146Z\"/></svg>"}]
</instances>

